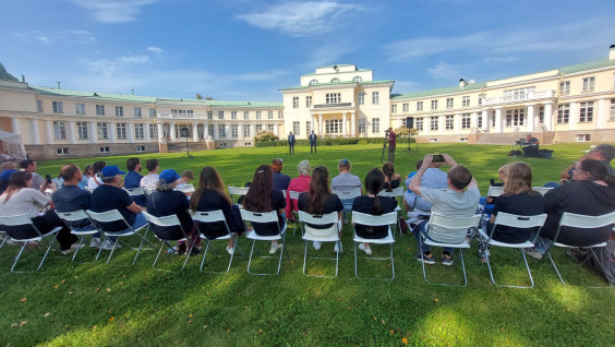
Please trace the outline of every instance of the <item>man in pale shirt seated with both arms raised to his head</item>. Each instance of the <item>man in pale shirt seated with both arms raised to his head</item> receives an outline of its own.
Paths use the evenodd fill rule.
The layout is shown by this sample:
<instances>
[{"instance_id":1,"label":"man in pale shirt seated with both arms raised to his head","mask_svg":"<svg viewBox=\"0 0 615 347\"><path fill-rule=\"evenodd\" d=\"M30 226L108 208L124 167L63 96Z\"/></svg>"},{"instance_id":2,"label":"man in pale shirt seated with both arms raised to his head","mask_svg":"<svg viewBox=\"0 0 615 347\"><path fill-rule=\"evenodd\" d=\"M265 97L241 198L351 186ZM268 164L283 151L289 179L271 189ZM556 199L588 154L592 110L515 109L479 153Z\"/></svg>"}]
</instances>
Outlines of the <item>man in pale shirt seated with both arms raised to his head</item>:
<instances>
[{"instance_id":1,"label":"man in pale shirt seated with both arms raised to his head","mask_svg":"<svg viewBox=\"0 0 615 347\"><path fill-rule=\"evenodd\" d=\"M426 202L432 204L432 212L450 217L471 217L477 211L481 193L479 192L479 183L470 174L466 167L457 165L457 163L448 155L443 154L444 165L451 166L447 176L447 188L446 189L433 189L425 188L421 186L423 179L423 174L429 170L432 165L433 155L427 154L423 159L423 166L419 169L419 172L414 175L408 188L422 198ZM466 188L468 190L466 190ZM467 230L450 230L448 228L430 228L429 237L432 240L443 243L460 243L466 238ZM421 224L420 232L425 234L425 223ZM414 234L417 241L420 241L419 232ZM420 244L420 242L419 242ZM435 264L435 258L430 251L427 244L423 244L420 252L414 255L417 261L423 261L425 264ZM445 248L442 253L442 264L449 266L453 265L453 249Z\"/></svg>"}]
</instances>

